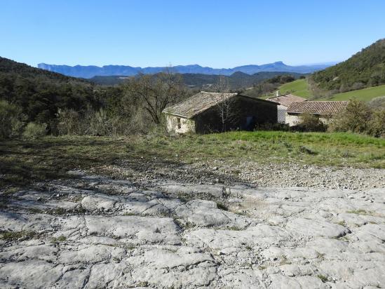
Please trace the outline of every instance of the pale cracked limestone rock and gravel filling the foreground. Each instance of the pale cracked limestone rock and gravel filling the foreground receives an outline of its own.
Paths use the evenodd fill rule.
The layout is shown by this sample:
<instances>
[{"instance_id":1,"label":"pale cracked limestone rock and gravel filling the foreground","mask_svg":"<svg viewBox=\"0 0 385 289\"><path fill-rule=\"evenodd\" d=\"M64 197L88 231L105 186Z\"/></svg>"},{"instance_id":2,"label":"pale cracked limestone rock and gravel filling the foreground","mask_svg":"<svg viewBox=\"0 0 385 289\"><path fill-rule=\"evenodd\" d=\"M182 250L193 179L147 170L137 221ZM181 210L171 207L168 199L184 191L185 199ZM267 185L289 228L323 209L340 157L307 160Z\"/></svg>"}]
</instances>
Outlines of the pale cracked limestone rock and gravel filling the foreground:
<instances>
[{"instance_id":1,"label":"pale cracked limestone rock and gravel filling the foreground","mask_svg":"<svg viewBox=\"0 0 385 289\"><path fill-rule=\"evenodd\" d=\"M384 170L173 166L1 191L0 288L385 288Z\"/></svg>"}]
</instances>

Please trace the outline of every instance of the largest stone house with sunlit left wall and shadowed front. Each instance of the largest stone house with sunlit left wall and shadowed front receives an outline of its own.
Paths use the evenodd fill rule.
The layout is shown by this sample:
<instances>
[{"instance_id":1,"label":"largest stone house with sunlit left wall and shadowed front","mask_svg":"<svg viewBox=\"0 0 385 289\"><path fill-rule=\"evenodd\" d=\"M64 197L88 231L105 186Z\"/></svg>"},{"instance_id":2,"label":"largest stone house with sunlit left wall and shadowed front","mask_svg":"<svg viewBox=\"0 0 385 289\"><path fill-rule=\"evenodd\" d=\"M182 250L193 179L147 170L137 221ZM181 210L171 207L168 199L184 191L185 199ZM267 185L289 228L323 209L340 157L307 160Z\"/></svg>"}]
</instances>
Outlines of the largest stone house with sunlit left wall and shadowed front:
<instances>
[{"instance_id":1,"label":"largest stone house with sunlit left wall and shadowed front","mask_svg":"<svg viewBox=\"0 0 385 289\"><path fill-rule=\"evenodd\" d=\"M253 130L257 124L276 123L277 105L277 102L239 93L201 91L167 107L163 113L169 133L212 133Z\"/></svg>"}]
</instances>

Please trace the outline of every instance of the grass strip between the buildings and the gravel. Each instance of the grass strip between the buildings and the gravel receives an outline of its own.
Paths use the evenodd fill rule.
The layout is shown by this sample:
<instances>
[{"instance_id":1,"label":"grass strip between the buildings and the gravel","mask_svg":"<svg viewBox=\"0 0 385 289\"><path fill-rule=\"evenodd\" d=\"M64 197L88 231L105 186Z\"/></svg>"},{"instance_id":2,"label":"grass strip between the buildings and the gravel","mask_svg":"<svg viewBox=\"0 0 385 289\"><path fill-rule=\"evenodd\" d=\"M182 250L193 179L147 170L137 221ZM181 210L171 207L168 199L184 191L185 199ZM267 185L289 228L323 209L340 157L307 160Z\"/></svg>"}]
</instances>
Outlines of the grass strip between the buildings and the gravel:
<instances>
[{"instance_id":1,"label":"grass strip between the buildings and the gravel","mask_svg":"<svg viewBox=\"0 0 385 289\"><path fill-rule=\"evenodd\" d=\"M76 168L162 160L385 168L385 140L351 133L231 132L184 137L44 137L0 142L0 187L66 177Z\"/></svg>"}]
</instances>

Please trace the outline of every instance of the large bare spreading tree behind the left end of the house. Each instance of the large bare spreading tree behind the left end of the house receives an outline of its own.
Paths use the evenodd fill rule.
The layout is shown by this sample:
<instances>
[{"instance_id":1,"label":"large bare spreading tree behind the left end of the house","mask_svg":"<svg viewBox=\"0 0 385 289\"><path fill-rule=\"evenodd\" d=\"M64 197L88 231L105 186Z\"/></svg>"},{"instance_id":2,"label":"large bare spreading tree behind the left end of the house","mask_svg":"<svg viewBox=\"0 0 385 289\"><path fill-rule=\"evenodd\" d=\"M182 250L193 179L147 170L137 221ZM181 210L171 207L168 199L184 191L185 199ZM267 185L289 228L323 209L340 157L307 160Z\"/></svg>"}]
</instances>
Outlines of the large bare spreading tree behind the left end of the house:
<instances>
[{"instance_id":1,"label":"large bare spreading tree behind the left end of the house","mask_svg":"<svg viewBox=\"0 0 385 289\"><path fill-rule=\"evenodd\" d=\"M141 74L130 79L126 90L130 96L143 102L144 109L157 124L161 123L163 109L184 98L187 93L182 77L174 74L171 67L158 74Z\"/></svg>"}]
</instances>

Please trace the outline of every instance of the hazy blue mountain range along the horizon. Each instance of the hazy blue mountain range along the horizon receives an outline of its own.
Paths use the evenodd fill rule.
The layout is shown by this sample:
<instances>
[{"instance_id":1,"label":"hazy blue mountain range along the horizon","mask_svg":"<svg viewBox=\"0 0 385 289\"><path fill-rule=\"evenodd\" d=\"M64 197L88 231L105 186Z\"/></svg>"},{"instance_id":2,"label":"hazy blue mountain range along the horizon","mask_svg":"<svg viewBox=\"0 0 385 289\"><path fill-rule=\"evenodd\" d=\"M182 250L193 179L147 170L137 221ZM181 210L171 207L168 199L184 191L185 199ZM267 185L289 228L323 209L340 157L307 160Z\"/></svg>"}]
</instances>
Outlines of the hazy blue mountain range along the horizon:
<instances>
[{"instance_id":1,"label":"hazy blue mountain range along the horizon","mask_svg":"<svg viewBox=\"0 0 385 289\"><path fill-rule=\"evenodd\" d=\"M282 61L269 63L266 65L243 65L234 68L212 68L201 67L200 65L177 65L173 67L173 71L180 74L222 74L231 75L234 72L243 72L245 74L255 74L257 72L296 72L296 73L311 73L316 72L332 64L320 65L300 65L290 66L285 65ZM67 76L81 77L90 79L94 76L134 76L136 74L156 74L162 72L166 67L130 67L124 65L104 65L97 66L68 66L68 65L48 65L46 63L39 63L37 65L41 69L46 69L50 72L58 72Z\"/></svg>"}]
</instances>

